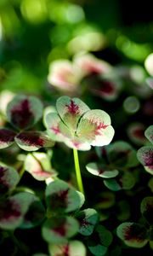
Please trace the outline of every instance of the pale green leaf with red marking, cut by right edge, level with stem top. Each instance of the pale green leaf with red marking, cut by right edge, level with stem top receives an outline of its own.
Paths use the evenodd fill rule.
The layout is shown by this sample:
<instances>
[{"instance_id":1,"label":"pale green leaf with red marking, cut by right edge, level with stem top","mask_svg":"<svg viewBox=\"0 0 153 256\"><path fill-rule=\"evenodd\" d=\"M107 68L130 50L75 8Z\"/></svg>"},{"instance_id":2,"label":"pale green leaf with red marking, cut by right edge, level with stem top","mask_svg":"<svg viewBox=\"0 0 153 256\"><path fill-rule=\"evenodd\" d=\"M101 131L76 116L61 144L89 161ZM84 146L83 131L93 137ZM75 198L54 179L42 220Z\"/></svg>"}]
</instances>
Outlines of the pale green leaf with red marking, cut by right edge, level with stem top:
<instances>
[{"instance_id":1,"label":"pale green leaf with red marking, cut by right edge, level with stem top","mask_svg":"<svg viewBox=\"0 0 153 256\"><path fill-rule=\"evenodd\" d=\"M137 152L139 162L144 166L146 172L153 174L153 147L144 146Z\"/></svg>"}]
</instances>

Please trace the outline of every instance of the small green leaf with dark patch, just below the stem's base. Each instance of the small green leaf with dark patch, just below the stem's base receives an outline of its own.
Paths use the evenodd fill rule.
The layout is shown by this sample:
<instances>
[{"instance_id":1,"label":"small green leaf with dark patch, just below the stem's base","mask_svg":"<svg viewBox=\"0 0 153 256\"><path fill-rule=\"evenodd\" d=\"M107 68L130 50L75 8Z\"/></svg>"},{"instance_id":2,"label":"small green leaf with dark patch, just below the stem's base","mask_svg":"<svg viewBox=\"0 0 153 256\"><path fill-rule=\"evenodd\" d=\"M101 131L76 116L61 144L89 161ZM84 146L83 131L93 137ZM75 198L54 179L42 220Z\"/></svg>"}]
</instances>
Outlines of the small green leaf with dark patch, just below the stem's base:
<instances>
[{"instance_id":1,"label":"small green leaf with dark patch, just below the stem's base","mask_svg":"<svg viewBox=\"0 0 153 256\"><path fill-rule=\"evenodd\" d=\"M98 222L99 214L94 209L88 208L78 212L77 220L80 223L79 233L83 236L90 236L94 231L94 226Z\"/></svg>"}]
</instances>

